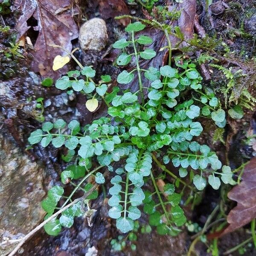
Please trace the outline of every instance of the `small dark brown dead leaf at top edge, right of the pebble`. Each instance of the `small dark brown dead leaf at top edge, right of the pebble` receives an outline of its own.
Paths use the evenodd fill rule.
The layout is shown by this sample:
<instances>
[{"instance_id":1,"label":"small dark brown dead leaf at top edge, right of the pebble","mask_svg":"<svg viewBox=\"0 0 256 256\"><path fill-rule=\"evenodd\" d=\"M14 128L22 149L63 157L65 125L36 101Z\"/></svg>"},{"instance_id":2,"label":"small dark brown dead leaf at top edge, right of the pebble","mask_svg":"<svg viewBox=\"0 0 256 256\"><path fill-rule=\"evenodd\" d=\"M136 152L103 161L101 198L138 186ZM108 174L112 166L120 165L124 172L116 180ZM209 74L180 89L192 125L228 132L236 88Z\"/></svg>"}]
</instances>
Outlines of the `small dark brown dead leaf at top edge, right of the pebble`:
<instances>
[{"instance_id":1,"label":"small dark brown dead leaf at top edge, right of the pebble","mask_svg":"<svg viewBox=\"0 0 256 256\"><path fill-rule=\"evenodd\" d=\"M109 19L129 14L129 9L124 0L99 0L99 13L103 19ZM130 19L123 18L117 20L117 22L127 26L130 23Z\"/></svg>"}]
</instances>

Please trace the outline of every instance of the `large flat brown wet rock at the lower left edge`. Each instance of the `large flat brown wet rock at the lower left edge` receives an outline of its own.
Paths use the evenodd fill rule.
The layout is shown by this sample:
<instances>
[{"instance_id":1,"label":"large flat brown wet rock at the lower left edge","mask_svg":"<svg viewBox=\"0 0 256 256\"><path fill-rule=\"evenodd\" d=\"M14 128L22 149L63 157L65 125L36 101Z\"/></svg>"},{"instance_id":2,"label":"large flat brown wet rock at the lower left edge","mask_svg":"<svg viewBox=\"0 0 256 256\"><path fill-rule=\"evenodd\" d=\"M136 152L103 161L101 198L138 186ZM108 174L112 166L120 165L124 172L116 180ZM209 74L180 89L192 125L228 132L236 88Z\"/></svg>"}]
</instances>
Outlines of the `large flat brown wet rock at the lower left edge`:
<instances>
[{"instance_id":1,"label":"large flat brown wet rock at the lower left edge","mask_svg":"<svg viewBox=\"0 0 256 256\"><path fill-rule=\"evenodd\" d=\"M22 236L42 221L43 175L41 166L0 134L0 240ZM6 255L14 246L0 247L0 255Z\"/></svg>"}]
</instances>

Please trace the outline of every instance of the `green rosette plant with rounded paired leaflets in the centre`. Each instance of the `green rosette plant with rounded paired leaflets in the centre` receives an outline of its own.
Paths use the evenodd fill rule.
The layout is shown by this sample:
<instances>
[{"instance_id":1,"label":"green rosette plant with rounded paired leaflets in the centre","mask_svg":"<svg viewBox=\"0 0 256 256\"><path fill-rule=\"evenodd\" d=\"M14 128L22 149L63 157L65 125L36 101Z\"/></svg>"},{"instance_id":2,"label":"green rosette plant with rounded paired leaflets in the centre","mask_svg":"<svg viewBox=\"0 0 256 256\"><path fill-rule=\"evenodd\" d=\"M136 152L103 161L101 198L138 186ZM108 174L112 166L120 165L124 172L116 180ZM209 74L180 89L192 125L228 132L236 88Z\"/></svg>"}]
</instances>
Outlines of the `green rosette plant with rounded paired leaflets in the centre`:
<instances>
[{"instance_id":1,"label":"green rosette plant with rounded paired leaflets in the centre","mask_svg":"<svg viewBox=\"0 0 256 256\"><path fill-rule=\"evenodd\" d=\"M105 183L105 173L109 172L113 185L108 194L111 197L108 204L109 216L116 219L116 227L123 233L134 229L134 221L140 218L138 206L144 204L143 211L149 215L149 224L157 228L160 234L177 235L186 222L183 209L180 207L182 192L177 188L188 187L192 192L196 189L183 181L187 175L187 168L191 168L190 179L198 190L204 189L207 181L204 172L209 172L209 184L218 189L221 182L233 183L230 167L223 166L215 152L207 145L200 145L195 141L200 136L203 127L199 122L201 118L209 117L216 125L225 125L225 112L220 108L218 99L211 90L201 88L201 76L195 64L182 59L175 59L175 67L171 67L172 52L169 42L169 65L149 67L143 70L140 59L154 58L156 52L145 48L138 51L138 45L151 44L152 39L145 35L136 37L136 32L142 31L145 25L140 22L129 24L125 31L131 35L116 41L114 48L121 49L122 53L116 63L125 66L134 56L136 67L122 71L117 76L119 84L134 82L134 73L138 77L138 90L119 92L113 87L108 92L109 75L101 76L96 83L96 75L92 67L83 67L81 63L68 53L79 65L81 71L74 70L56 81L55 86L61 90L73 88L87 96L86 106L89 111L95 111L99 102L108 106L108 116L94 120L91 124L81 127L76 120L68 125L62 119L54 123L45 122L42 129L33 131L29 137L30 144L41 143L43 147L52 143L55 148L63 145L69 150L62 158L73 164L61 173L63 184L74 186L71 194L63 196L64 189L54 186L49 190L48 196L42 202L47 212L46 218L51 216L55 209L63 208L72 200L79 190L91 192L85 201L79 201L69 209L62 212L60 218L54 218L45 225L45 230L51 235L57 235L61 226L71 227L75 216L82 216L83 209L88 201L97 197L97 190L87 178L92 176L98 184ZM127 53L126 49L133 49ZM59 58L59 57L58 57ZM55 63L56 64L56 63ZM60 67L59 67L60 68ZM82 75L82 77L81 77ZM143 75L151 82L149 88L143 87ZM143 78L143 79L142 79ZM148 94L147 94L148 93ZM191 95L194 100L183 101L183 97ZM148 97L146 97L148 95ZM199 99L198 99L199 97ZM201 97L201 98L200 98ZM203 107L204 106L204 107ZM158 159L162 158L163 163ZM125 162L124 162L125 161ZM159 167L162 173L157 175L152 170L152 162ZM175 167L180 167L177 177L169 171L165 164L172 161ZM115 167L119 163L119 168ZM101 169L107 171L102 174ZM174 184L166 183L162 188L157 181L170 175ZM151 183L152 189L143 189L144 183ZM176 186L176 188L175 188ZM63 204L59 204L65 198ZM85 204L85 207L84 207ZM113 242L114 243L114 242ZM114 243L116 244L116 243Z\"/></svg>"}]
</instances>

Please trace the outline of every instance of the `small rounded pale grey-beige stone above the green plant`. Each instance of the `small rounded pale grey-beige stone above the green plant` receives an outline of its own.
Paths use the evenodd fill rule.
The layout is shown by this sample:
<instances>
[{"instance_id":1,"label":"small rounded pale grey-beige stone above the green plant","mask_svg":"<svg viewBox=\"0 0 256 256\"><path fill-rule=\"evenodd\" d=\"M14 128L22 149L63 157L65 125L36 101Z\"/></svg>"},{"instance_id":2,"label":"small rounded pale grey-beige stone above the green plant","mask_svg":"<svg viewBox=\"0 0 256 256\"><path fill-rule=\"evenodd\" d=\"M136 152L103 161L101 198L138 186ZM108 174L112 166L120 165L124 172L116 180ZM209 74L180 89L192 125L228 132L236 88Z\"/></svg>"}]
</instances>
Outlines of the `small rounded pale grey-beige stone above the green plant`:
<instances>
[{"instance_id":1,"label":"small rounded pale grey-beige stone above the green plant","mask_svg":"<svg viewBox=\"0 0 256 256\"><path fill-rule=\"evenodd\" d=\"M104 20L93 18L85 22L79 32L79 44L82 50L102 50L108 41L107 26Z\"/></svg>"}]
</instances>

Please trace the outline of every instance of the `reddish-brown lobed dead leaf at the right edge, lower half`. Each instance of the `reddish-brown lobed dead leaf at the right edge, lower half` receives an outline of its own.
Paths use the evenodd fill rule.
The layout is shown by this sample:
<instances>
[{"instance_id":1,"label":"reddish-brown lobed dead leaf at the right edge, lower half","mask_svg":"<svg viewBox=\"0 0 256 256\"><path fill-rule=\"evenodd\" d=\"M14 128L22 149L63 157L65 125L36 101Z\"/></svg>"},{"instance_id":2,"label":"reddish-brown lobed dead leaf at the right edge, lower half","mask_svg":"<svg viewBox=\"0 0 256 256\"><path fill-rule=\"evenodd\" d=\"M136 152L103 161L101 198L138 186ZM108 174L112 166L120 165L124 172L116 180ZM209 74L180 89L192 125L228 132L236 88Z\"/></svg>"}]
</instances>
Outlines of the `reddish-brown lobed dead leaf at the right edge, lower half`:
<instances>
[{"instance_id":1,"label":"reddish-brown lobed dead leaf at the right edge, lower half","mask_svg":"<svg viewBox=\"0 0 256 256\"><path fill-rule=\"evenodd\" d=\"M230 233L256 218L256 157L245 166L242 182L228 193L228 198L237 202L227 215L229 226L221 235Z\"/></svg>"}]
</instances>

